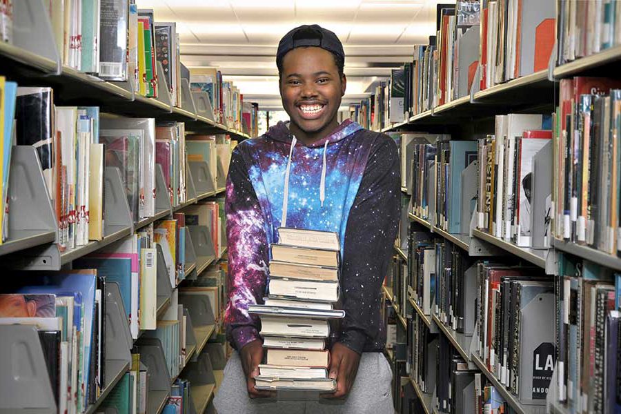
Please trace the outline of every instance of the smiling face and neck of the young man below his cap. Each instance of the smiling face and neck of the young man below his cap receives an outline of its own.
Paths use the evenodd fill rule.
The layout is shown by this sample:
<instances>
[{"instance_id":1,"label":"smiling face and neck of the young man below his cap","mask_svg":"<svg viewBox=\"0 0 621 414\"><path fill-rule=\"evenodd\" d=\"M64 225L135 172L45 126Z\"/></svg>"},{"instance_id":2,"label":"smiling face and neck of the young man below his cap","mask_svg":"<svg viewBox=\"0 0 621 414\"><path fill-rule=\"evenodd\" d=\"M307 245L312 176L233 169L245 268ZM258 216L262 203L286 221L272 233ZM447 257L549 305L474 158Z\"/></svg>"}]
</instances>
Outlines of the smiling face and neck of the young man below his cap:
<instances>
[{"instance_id":1,"label":"smiling face and neck of the young man below his cap","mask_svg":"<svg viewBox=\"0 0 621 414\"><path fill-rule=\"evenodd\" d=\"M311 144L333 132L346 79L339 75L332 53L317 47L295 48L282 59L280 75L280 97L293 135Z\"/></svg>"}]
</instances>

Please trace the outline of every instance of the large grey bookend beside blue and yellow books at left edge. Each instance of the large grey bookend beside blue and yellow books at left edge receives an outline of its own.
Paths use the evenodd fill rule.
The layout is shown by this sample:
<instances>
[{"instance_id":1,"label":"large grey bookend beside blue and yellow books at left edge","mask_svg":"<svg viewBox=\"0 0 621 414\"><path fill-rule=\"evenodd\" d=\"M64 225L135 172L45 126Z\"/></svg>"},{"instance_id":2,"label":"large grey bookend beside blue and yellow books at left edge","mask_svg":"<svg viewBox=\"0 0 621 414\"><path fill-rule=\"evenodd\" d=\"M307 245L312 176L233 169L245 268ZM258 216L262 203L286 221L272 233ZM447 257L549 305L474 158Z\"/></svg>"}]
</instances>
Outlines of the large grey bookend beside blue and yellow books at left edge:
<instances>
[{"instance_id":1,"label":"large grey bookend beside blue and yellow books at left edge","mask_svg":"<svg viewBox=\"0 0 621 414\"><path fill-rule=\"evenodd\" d=\"M58 223L37 150L14 146L10 169L8 239L0 245L0 255L57 239Z\"/></svg>"}]
</instances>

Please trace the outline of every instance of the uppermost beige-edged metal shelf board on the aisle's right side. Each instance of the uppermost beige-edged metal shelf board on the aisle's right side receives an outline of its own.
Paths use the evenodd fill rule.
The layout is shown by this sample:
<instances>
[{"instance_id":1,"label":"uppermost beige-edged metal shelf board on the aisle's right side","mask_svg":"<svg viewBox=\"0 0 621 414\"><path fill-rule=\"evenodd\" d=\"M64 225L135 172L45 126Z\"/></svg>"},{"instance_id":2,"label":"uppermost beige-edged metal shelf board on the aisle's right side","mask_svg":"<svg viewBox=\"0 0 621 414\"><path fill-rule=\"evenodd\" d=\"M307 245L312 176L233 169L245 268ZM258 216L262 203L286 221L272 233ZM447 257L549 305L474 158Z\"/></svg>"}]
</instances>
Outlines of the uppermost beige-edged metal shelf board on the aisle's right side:
<instances>
[{"instance_id":1,"label":"uppermost beige-edged metal shelf board on the aisle's right side","mask_svg":"<svg viewBox=\"0 0 621 414\"><path fill-rule=\"evenodd\" d=\"M571 77L582 72L597 72L607 66L613 66L621 59L621 46L614 46L595 55L582 57L562 66L554 66L551 59L550 67L531 75L513 79L484 90L475 90L478 82L473 82L473 90L469 96L455 99L443 105L426 110L409 117L406 121L392 124L381 132L389 132L411 125L422 124L455 124L464 117L489 117L494 113L506 112L507 107L533 106L542 103L542 96L551 106L555 81ZM548 93L549 95L544 95Z\"/></svg>"}]
</instances>

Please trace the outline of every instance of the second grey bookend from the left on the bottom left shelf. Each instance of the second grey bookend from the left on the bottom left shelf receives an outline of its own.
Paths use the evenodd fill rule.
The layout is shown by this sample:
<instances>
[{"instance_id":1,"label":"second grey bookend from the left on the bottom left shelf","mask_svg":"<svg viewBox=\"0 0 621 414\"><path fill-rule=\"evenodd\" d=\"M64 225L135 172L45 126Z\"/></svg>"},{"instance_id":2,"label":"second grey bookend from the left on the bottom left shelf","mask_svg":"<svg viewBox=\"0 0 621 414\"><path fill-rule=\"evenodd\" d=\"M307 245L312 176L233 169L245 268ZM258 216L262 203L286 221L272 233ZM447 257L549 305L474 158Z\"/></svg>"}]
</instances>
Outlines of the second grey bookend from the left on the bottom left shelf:
<instances>
[{"instance_id":1,"label":"second grey bookend from the left on the bottom left shelf","mask_svg":"<svg viewBox=\"0 0 621 414\"><path fill-rule=\"evenodd\" d=\"M102 400L132 364L130 349L133 340L121 299L121 289L116 282L106 283L106 337L103 340L106 344L106 371L103 392L99 397Z\"/></svg>"}]
</instances>

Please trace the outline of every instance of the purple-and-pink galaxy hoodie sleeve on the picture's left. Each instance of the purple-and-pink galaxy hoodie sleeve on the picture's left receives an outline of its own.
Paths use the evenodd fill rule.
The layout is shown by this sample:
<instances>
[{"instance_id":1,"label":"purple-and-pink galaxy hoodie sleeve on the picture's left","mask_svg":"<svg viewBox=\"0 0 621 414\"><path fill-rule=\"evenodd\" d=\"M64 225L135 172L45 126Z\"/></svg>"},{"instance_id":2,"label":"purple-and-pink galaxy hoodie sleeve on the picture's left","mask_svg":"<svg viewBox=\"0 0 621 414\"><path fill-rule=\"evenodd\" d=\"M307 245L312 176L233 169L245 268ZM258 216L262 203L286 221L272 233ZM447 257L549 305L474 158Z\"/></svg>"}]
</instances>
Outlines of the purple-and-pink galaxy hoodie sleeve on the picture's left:
<instances>
[{"instance_id":1,"label":"purple-and-pink galaxy hoodie sleeve on the picture's left","mask_svg":"<svg viewBox=\"0 0 621 414\"><path fill-rule=\"evenodd\" d=\"M264 215L239 146L231 155L224 206L229 298L224 320L228 341L239 350L259 339L259 318L248 314L248 305L262 301L269 261Z\"/></svg>"}]
</instances>

